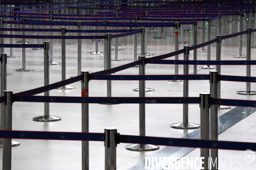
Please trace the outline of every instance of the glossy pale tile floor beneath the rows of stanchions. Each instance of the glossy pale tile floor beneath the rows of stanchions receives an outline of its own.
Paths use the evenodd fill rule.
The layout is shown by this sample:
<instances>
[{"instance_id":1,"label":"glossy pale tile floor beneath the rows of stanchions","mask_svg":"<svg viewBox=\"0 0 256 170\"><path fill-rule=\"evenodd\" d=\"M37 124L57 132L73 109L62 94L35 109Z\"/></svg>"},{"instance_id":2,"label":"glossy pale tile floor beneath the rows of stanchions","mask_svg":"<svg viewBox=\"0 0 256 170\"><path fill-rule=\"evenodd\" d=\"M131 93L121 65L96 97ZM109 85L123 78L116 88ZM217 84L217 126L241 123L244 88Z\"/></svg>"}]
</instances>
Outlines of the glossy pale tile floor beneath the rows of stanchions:
<instances>
[{"instance_id":1,"label":"glossy pale tile floor beneath the rows of stanchions","mask_svg":"<svg viewBox=\"0 0 256 170\"><path fill-rule=\"evenodd\" d=\"M236 17L232 18L233 20ZM228 21L229 18L226 18ZM213 25L217 21L213 21ZM233 34L238 32L238 24L225 24L225 34ZM249 21L246 21L248 27ZM254 24L254 22L253 22ZM59 28L59 27L58 27ZM75 29L70 27L71 29ZM93 29L93 27L91 27ZM190 26L189 26L190 28ZM163 29L161 35L166 34L166 28ZM174 31L174 30L172 30ZM207 32L207 31L206 31ZM9 32L6 32L9 34ZM16 34L20 34L16 32ZM35 35L36 33L28 33ZM45 34L45 33L40 33ZM217 28L212 28L212 38L217 34ZM55 33L55 35L59 35ZM206 34L207 35L207 34ZM152 40L156 37L156 31L148 31L148 53L153 53L154 56L167 54L175 49L175 38L166 37L165 40ZM207 37L207 36L206 36ZM15 39L16 41L18 39ZM223 60L244 60L245 58L232 58L232 55L239 54L238 51L239 37L233 37L222 42L221 57ZM9 39L5 40L9 43ZM27 40L29 43L35 43L35 40ZM43 43L44 40L41 40ZM45 40L47 41L47 40ZM191 33L184 33L184 41L191 42ZM77 40L70 40L75 45L66 46L66 74L67 78L77 75ZM53 40L54 51L53 60L61 62L61 40ZM114 43L114 42L113 42ZM124 61L112 61L112 67L123 65L133 61L134 58L134 36L122 37L121 43L126 44L124 51L119 51L119 58ZM198 43L201 43L201 30L198 30ZM188 45L190 45L189 43ZM253 36L252 36L253 46ZM211 59L216 58L216 45L211 45ZM183 45L179 46L180 49ZM90 52L95 51L95 42L90 40L82 40L82 70L87 70L90 73L101 71L104 61L103 55L90 55ZM103 42L99 42L99 51L103 52ZM138 38L138 53L140 51L140 38ZM9 49L6 49L9 53ZM251 49L251 57L255 59L256 49ZM243 36L243 54L246 54L246 36ZM21 48L14 49L14 55L22 55ZM114 51L112 51L112 58ZM14 93L26 91L32 88L41 87L44 85L44 67L43 51L31 51L26 49L26 68L32 68L32 72L16 72L17 68L21 68L22 58L8 58L7 71L12 73L12 76L7 77L7 90L12 90ZM183 59L183 55L179 56ZM193 54L189 55L193 59ZM170 58L174 59L174 57ZM199 60L206 60L207 53L198 53ZM193 73L193 67L189 66L189 72ZM198 74L209 74L211 70L202 70L198 66ZM182 74L183 66L179 66L179 73ZM138 68L129 68L116 74L138 74ZM174 65L146 65L146 74L174 74ZM245 66L222 66L221 74L246 76ZM256 66L251 66L251 76L255 76ZM61 65L50 66L50 83L61 81ZM71 84L73 90L52 90L51 96L80 96L81 83L76 82ZM138 92L132 91L133 88L138 88L138 81L113 81L112 96L139 96ZM183 96L182 82L166 82L166 81L147 81L147 88L154 88L154 92L147 92L146 96ZM106 81L92 80L89 83L90 96L106 96ZM251 84L252 91L256 91L256 85ZM249 99L256 100L256 96L238 95L236 91L246 90L244 82L221 82L221 98L225 99ZM201 92L209 92L209 81L189 81L189 96L198 97ZM43 95L43 94L38 94ZM103 133L105 127L116 127L121 134L139 135L139 105L138 104L120 104L120 105L89 105L90 114L90 132ZM232 109L235 107L232 107ZM244 108L246 110L246 108ZM219 116L229 110L219 111ZM81 104L50 104L50 114L52 116L61 117L58 122L33 122L32 117L44 114L44 104L35 102L15 102L13 104L13 130L38 130L38 131L68 131L81 132ZM227 141L242 141L255 142L256 139L256 115L249 114L240 122L231 126L219 135L219 140ZM167 105L167 104L147 104L146 105L146 135L161 136L161 137L177 137L181 138L194 130L179 130L170 128L172 123L182 121L182 105ZM200 122L199 105L189 105L189 122ZM72 141L48 141L48 140L18 140L20 146L12 148L12 169L13 170L71 170L81 169L81 142ZM103 142L90 143L90 170L104 170L104 144ZM161 156L161 152L166 148L160 146L160 150L149 152L136 152L125 150L124 143L117 146L117 169L137 169L144 170L144 165L138 166L145 157L157 154ZM184 149L186 150L186 149ZM191 151L191 149L190 149ZM2 152L2 148L0 148ZM186 154L188 152L184 152ZM168 153L167 153L168 155ZM171 153L170 153L171 155ZM166 154L165 154L166 156ZM186 156L200 156L200 149L195 149ZM244 163L244 151L219 150L219 158L225 159L230 157L241 157L240 166L233 164L234 169L253 170L256 162L252 164ZM2 159L2 154L0 154ZM226 161L226 164L228 161ZM230 163L230 161L229 161ZM0 167L2 164L0 163ZM135 168L136 167L136 168ZM220 167L221 169L221 167ZM227 168L226 168L227 169Z\"/></svg>"}]
</instances>

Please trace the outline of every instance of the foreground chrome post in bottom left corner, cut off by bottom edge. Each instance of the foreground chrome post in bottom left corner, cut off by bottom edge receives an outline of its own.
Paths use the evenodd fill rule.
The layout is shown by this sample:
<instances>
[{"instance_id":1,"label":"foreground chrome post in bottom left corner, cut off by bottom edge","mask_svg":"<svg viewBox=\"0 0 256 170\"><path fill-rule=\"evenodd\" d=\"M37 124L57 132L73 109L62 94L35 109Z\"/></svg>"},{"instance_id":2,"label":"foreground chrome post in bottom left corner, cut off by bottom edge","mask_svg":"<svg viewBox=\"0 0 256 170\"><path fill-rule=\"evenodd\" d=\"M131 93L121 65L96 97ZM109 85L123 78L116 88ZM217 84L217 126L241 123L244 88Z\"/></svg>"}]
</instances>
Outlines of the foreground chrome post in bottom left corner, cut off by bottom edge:
<instances>
[{"instance_id":1,"label":"foreground chrome post in bottom left corner, cut off by bottom edge","mask_svg":"<svg viewBox=\"0 0 256 170\"><path fill-rule=\"evenodd\" d=\"M3 130L12 130L12 91L3 91L6 96L3 112ZM3 139L3 170L12 169L12 139Z\"/></svg>"}]
</instances>

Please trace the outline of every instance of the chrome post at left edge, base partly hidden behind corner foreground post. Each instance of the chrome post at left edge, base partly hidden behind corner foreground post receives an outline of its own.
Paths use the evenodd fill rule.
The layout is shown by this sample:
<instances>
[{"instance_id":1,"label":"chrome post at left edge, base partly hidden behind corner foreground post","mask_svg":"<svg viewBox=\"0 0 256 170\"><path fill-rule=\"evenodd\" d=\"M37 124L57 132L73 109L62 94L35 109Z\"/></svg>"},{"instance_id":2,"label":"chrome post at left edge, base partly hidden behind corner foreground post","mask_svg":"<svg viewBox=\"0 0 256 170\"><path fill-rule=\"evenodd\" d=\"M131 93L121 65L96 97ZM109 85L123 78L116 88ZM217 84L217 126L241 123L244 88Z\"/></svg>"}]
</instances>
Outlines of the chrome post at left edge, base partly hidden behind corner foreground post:
<instances>
[{"instance_id":1,"label":"chrome post at left edge, base partly hidden behind corner foreground post","mask_svg":"<svg viewBox=\"0 0 256 170\"><path fill-rule=\"evenodd\" d=\"M2 61L1 61L1 87L0 87L0 95L4 96L4 92L7 90L7 55L6 54L1 54ZM4 113L4 105L5 103L1 103L1 111L0 113ZM3 114L0 114L0 130L3 130ZM12 141L12 146L19 146L20 142ZM3 139L0 139L0 147L3 147Z\"/></svg>"}]
</instances>

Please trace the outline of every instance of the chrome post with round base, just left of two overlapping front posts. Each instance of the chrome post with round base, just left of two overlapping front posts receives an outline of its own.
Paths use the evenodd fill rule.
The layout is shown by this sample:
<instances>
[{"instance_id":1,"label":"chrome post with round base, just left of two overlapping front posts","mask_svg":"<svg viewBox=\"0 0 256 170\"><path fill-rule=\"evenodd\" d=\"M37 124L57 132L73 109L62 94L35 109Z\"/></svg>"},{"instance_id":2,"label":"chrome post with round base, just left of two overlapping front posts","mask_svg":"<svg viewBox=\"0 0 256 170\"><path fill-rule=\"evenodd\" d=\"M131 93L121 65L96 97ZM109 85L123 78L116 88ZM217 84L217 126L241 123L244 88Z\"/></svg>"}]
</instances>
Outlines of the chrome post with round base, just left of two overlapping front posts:
<instances>
[{"instance_id":1,"label":"chrome post with round base, just left of two overlapping front posts","mask_svg":"<svg viewBox=\"0 0 256 170\"><path fill-rule=\"evenodd\" d=\"M189 60L189 46L184 46L185 52L184 52L184 60ZM183 66L183 74L188 75L189 74L189 65ZM183 97L189 96L189 80L184 80L183 82ZM171 125L173 128L177 129L196 129L199 128L200 125L189 123L189 104L184 103L183 104L183 122L174 123Z\"/></svg>"}]
</instances>

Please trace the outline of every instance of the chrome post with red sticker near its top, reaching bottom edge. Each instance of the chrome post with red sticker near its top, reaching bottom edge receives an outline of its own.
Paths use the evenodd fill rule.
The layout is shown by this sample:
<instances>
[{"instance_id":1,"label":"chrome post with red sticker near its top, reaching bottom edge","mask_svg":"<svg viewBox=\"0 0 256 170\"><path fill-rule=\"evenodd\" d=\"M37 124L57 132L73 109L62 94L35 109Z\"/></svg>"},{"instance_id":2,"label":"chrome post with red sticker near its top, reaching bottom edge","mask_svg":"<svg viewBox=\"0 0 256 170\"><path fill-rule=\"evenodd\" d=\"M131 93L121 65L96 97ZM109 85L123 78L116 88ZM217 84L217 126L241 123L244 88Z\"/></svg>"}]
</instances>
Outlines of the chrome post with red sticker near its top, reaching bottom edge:
<instances>
[{"instance_id":1,"label":"chrome post with red sticker near its top, reaching bottom edge","mask_svg":"<svg viewBox=\"0 0 256 170\"><path fill-rule=\"evenodd\" d=\"M89 96L89 72L81 71L84 77L81 81L81 96ZM82 103L82 132L89 132L89 104ZM89 141L82 141L82 170L89 170Z\"/></svg>"}]
</instances>

